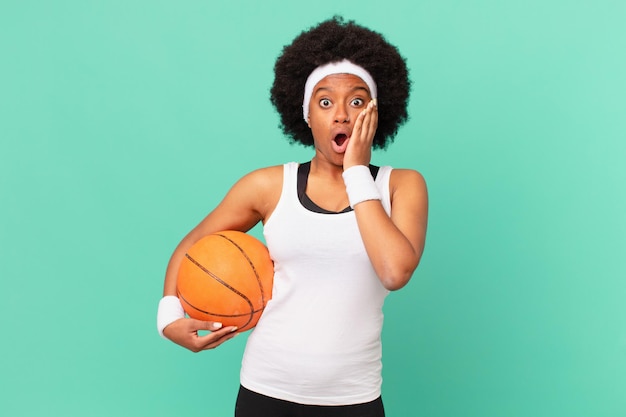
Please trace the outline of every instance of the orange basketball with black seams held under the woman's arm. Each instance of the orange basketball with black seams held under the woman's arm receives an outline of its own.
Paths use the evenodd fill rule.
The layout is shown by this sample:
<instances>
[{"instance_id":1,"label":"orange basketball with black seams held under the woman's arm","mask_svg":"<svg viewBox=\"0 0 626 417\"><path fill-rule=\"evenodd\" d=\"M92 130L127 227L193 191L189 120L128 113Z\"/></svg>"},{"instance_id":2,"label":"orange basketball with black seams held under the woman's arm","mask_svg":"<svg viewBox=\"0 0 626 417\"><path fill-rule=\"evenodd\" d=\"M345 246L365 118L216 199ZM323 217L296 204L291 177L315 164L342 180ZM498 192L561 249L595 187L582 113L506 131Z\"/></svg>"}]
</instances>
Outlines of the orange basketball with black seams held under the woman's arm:
<instances>
[{"instance_id":1,"label":"orange basketball with black seams held under the woman's arm","mask_svg":"<svg viewBox=\"0 0 626 417\"><path fill-rule=\"evenodd\" d=\"M265 245L243 232L205 236L185 254L177 291L189 317L237 326L256 326L272 297L274 265Z\"/></svg>"}]
</instances>

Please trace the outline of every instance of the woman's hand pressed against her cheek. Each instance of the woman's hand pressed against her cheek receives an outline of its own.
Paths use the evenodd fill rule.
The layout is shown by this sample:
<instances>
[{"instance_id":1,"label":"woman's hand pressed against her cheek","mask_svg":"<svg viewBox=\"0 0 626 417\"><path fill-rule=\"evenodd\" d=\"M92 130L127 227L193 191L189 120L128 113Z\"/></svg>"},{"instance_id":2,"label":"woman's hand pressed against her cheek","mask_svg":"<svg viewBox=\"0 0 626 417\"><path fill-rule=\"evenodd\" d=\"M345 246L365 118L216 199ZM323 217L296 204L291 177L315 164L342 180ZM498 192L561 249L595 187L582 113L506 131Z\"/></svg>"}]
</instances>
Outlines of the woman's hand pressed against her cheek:
<instances>
[{"instance_id":1,"label":"woman's hand pressed against her cheek","mask_svg":"<svg viewBox=\"0 0 626 417\"><path fill-rule=\"evenodd\" d=\"M348 148L343 157L344 171L354 165L368 166L372 159L372 143L378 127L378 108L376 99L359 113L354 123Z\"/></svg>"}]
</instances>

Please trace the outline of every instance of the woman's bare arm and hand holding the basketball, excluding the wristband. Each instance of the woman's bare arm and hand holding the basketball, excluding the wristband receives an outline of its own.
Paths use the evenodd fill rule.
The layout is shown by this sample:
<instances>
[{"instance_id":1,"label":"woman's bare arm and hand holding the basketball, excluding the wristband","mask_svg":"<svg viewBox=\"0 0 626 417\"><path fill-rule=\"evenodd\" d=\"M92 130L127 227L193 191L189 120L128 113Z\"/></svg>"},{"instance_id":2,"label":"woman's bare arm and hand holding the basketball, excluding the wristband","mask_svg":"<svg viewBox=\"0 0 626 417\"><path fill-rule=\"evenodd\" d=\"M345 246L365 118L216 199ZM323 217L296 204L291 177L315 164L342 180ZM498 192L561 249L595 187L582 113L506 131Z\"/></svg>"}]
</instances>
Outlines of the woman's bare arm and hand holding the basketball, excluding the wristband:
<instances>
[{"instance_id":1,"label":"woman's bare arm and hand holding the basketball, excluding the wristband","mask_svg":"<svg viewBox=\"0 0 626 417\"><path fill-rule=\"evenodd\" d=\"M265 221L276 205L282 188L282 166L264 168L241 178L222 202L178 244L165 273L163 296L176 296L178 269L187 250L202 237L223 231L247 232L259 221ZM212 333L198 335L199 330ZM190 318L174 321L163 330L173 342L198 352L213 349L235 336L235 327L222 328L220 323Z\"/></svg>"}]
</instances>

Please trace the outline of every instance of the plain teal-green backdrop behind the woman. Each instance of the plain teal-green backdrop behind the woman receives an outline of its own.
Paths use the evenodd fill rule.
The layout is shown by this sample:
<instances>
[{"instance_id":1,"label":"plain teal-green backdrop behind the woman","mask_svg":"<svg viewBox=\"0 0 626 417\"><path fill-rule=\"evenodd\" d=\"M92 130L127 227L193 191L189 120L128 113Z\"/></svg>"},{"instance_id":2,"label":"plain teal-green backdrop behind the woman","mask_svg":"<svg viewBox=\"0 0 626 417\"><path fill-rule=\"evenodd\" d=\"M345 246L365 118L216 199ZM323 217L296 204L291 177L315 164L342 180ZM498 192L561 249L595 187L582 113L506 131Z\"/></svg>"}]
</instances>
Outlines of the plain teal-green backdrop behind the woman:
<instances>
[{"instance_id":1,"label":"plain teal-green backdrop behind the woman","mask_svg":"<svg viewBox=\"0 0 626 417\"><path fill-rule=\"evenodd\" d=\"M240 176L310 158L272 66L334 13L407 58L411 120L373 161L431 198L385 306L387 415L626 415L620 0L3 1L1 415L232 415L247 336L162 340L163 273Z\"/></svg>"}]
</instances>

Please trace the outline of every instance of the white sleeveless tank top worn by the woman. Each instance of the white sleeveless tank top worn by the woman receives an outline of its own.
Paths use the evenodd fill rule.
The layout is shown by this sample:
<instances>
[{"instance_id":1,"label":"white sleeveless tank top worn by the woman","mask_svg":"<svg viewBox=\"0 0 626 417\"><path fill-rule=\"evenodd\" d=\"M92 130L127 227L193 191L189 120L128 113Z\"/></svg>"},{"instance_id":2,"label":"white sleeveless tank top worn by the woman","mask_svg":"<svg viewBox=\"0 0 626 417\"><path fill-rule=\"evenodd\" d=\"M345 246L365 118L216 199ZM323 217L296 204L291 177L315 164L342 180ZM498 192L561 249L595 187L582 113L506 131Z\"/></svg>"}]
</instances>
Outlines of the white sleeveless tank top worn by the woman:
<instances>
[{"instance_id":1,"label":"white sleeveless tank top worn by the woman","mask_svg":"<svg viewBox=\"0 0 626 417\"><path fill-rule=\"evenodd\" d=\"M389 293L365 252L353 211L309 211L298 164L284 165L280 200L264 226L274 261L272 299L248 338L241 384L316 405L372 401L381 392L383 302ZM376 185L389 214L391 167Z\"/></svg>"}]
</instances>

